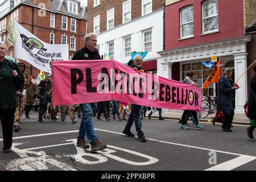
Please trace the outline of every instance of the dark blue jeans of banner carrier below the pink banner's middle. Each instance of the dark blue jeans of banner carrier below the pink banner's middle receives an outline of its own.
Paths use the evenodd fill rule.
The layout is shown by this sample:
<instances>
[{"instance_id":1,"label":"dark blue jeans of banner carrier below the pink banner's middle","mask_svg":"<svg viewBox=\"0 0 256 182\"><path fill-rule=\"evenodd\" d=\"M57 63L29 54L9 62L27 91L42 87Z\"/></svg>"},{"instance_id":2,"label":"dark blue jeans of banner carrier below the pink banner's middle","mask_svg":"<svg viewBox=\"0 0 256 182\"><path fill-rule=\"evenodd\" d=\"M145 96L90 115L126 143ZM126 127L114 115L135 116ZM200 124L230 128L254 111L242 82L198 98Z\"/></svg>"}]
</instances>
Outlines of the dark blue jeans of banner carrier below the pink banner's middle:
<instances>
[{"instance_id":1,"label":"dark blue jeans of banner carrier below the pink banner's middle","mask_svg":"<svg viewBox=\"0 0 256 182\"><path fill-rule=\"evenodd\" d=\"M143 131L141 130L141 106L131 104L131 114L129 115L128 121L125 126L125 131L130 131L131 126L133 126L133 122L135 123L135 129L137 131L138 137L143 136Z\"/></svg>"}]
</instances>

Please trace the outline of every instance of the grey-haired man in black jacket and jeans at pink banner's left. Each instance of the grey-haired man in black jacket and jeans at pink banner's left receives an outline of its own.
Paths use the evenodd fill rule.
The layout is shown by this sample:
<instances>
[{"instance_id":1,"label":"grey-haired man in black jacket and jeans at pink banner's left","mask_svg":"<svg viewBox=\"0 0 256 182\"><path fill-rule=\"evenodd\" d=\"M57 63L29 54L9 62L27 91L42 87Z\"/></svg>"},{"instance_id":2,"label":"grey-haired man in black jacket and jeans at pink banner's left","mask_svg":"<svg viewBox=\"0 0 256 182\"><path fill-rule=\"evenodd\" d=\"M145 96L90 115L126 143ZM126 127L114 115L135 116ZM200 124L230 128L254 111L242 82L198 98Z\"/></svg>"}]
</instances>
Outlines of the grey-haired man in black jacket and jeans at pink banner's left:
<instances>
[{"instance_id":1,"label":"grey-haired man in black jacket and jeans at pink banner's left","mask_svg":"<svg viewBox=\"0 0 256 182\"><path fill-rule=\"evenodd\" d=\"M101 56L98 53L97 47L97 35L88 33L84 37L85 47L75 52L72 60L100 60ZM104 150L107 146L99 142L97 135L94 133L92 113L94 103L80 104L82 111L82 121L79 127L79 137L77 137L76 146L82 148L89 148L89 144L86 144L84 137L87 136L92 146L91 151Z\"/></svg>"}]
</instances>

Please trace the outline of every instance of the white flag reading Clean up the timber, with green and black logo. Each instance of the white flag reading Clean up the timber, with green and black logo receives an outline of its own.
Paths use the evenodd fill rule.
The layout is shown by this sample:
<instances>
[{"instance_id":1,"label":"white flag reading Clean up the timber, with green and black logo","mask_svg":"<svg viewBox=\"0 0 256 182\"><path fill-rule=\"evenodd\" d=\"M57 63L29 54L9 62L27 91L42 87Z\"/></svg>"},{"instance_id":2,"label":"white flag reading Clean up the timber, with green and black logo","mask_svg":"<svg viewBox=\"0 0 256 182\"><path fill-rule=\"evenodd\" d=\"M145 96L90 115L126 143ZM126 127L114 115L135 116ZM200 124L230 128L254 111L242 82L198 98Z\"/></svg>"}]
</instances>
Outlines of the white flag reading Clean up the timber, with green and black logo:
<instances>
[{"instance_id":1,"label":"white flag reading Clean up the timber, with green and black logo","mask_svg":"<svg viewBox=\"0 0 256 182\"><path fill-rule=\"evenodd\" d=\"M14 21L14 55L32 64L41 71L51 73L49 63L53 60L68 60L68 44L47 44Z\"/></svg>"}]
</instances>

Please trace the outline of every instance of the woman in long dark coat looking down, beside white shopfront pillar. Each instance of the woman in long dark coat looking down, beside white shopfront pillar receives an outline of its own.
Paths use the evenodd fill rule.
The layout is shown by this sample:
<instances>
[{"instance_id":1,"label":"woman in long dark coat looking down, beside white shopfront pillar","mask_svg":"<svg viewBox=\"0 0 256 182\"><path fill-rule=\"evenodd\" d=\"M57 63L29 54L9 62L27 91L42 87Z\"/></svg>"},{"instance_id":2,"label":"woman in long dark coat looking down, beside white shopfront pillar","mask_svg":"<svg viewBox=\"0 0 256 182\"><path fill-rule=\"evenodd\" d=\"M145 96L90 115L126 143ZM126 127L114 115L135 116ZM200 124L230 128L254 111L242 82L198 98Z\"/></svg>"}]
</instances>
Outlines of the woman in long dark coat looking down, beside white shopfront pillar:
<instances>
[{"instance_id":1,"label":"woman in long dark coat looking down, beside white shopfront pillar","mask_svg":"<svg viewBox=\"0 0 256 182\"><path fill-rule=\"evenodd\" d=\"M226 68L224 70L224 76L218 80L218 95L217 95L217 110L224 114L224 123L222 124L222 130L226 132L232 131L230 129L234 118L234 107L232 96L234 90L238 89L238 85L230 84L230 78L232 78L233 70Z\"/></svg>"}]
</instances>

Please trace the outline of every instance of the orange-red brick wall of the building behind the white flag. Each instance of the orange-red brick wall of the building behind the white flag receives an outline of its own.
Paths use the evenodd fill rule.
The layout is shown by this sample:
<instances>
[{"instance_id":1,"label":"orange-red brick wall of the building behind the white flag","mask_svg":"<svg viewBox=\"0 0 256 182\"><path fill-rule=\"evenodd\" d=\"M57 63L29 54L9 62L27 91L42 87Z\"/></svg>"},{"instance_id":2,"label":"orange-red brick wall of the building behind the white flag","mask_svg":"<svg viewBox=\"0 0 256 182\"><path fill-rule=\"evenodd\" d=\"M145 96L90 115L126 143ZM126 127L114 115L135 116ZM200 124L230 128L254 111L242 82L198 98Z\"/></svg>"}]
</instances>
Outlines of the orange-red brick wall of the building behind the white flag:
<instances>
[{"instance_id":1,"label":"orange-red brick wall of the building behind the white flag","mask_svg":"<svg viewBox=\"0 0 256 182\"><path fill-rule=\"evenodd\" d=\"M38 1L43 2L43 1ZM47 0L47 2L49 2ZM48 5L47 5L48 6ZM74 35L76 38L76 50L84 47L84 36L86 34L86 20L76 19L76 32L71 32L71 17L68 16L68 30L61 30L61 14L55 14L55 28L49 27L50 24L50 12L46 11L46 17L38 16L39 9L34 8L34 30L33 34L37 36L39 39L43 40L46 43L49 43L49 34L53 32L55 34L55 44L61 43L61 35L67 35L67 43L70 43L71 36ZM9 24L9 19L11 17L11 13L7 16L7 27ZM28 31L32 31L32 7L30 6L20 6L19 7L19 23L26 28ZM7 36L7 33L6 33ZM70 48L70 44L69 44ZM14 52L13 52L14 53ZM75 51L69 51L69 56L71 56ZM40 72L35 67L31 66L29 63L23 60L22 61L26 65L26 73L28 75L31 74L32 67L32 77L36 78L38 73Z\"/></svg>"}]
</instances>

